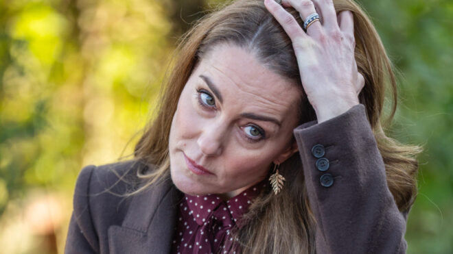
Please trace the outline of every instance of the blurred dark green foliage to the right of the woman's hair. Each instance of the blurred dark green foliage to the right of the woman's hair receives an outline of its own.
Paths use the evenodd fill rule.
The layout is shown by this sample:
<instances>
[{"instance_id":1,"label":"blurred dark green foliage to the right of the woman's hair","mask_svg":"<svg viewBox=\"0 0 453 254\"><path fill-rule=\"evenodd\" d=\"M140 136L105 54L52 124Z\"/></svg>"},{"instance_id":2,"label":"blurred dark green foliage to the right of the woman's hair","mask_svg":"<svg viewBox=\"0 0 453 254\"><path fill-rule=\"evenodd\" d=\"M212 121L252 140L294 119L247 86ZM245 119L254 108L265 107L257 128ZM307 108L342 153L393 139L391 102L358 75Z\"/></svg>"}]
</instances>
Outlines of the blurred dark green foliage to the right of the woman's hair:
<instances>
[{"instance_id":1,"label":"blurred dark green foliage to the right of the woman's hair","mask_svg":"<svg viewBox=\"0 0 453 254\"><path fill-rule=\"evenodd\" d=\"M424 144L408 253L453 253L453 1L364 1L396 68L392 134Z\"/></svg>"}]
</instances>

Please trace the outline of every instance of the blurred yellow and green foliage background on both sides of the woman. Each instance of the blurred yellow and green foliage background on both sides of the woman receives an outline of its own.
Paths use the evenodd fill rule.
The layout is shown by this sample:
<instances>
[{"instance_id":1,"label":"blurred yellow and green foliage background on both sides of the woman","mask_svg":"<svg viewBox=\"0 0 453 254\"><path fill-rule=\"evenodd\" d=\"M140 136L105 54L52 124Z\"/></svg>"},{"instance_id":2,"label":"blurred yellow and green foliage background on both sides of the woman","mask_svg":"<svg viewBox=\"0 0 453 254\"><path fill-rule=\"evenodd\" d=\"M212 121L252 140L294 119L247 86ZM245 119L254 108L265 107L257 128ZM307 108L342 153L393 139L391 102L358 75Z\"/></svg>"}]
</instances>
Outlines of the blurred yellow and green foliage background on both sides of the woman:
<instances>
[{"instance_id":1,"label":"blurred yellow and green foliage background on both sides of the woman","mask_svg":"<svg viewBox=\"0 0 453 254\"><path fill-rule=\"evenodd\" d=\"M130 158L178 37L221 2L0 0L1 253L63 253L80 169ZM401 73L388 134L424 146L408 253L453 253L453 1L360 3Z\"/></svg>"}]
</instances>

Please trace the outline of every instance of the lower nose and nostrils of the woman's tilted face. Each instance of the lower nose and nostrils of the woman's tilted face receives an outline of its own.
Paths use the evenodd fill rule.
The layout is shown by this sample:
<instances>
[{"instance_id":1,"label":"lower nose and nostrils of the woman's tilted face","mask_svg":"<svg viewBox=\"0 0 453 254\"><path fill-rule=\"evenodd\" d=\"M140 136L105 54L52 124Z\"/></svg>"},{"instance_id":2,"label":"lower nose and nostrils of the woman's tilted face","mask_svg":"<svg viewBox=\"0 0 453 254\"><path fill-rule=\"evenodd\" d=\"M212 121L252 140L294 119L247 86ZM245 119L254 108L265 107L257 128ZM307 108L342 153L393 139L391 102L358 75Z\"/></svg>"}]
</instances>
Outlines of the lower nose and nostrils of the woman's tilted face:
<instances>
[{"instance_id":1,"label":"lower nose and nostrils of the woman's tilted face","mask_svg":"<svg viewBox=\"0 0 453 254\"><path fill-rule=\"evenodd\" d=\"M224 131L218 125L207 125L198 137L198 147L207 156L222 154L222 137Z\"/></svg>"}]
</instances>

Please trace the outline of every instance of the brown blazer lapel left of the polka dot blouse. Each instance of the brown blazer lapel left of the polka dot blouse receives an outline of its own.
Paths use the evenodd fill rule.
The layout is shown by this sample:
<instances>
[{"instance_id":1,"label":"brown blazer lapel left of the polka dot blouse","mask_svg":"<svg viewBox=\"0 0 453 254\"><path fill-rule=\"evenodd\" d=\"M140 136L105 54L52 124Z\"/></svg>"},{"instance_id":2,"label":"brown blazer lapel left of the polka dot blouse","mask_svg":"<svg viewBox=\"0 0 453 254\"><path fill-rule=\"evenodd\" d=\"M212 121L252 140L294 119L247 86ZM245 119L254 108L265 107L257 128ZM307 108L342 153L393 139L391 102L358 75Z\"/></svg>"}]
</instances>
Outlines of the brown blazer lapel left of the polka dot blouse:
<instances>
[{"instance_id":1,"label":"brown blazer lapel left of the polka dot blouse","mask_svg":"<svg viewBox=\"0 0 453 254\"><path fill-rule=\"evenodd\" d=\"M170 177L132 196L123 224L108 228L109 252L170 253L178 201Z\"/></svg>"}]
</instances>

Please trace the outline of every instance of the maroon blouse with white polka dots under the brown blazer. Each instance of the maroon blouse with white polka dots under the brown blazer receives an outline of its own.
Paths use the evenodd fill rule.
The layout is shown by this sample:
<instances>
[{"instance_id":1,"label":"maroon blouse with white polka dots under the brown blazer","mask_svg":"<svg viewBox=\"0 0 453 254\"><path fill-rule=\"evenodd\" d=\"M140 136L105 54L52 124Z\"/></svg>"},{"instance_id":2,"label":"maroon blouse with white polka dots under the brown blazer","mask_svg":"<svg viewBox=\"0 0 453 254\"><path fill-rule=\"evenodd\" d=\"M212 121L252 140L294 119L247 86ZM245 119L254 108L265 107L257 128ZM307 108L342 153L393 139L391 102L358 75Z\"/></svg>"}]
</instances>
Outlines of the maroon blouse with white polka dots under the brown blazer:
<instances>
[{"instance_id":1,"label":"maroon blouse with white polka dots under the brown blazer","mask_svg":"<svg viewBox=\"0 0 453 254\"><path fill-rule=\"evenodd\" d=\"M242 214L265 186L266 181L259 182L228 201L215 194L184 194L178 209L172 253L235 253L231 249L231 230L241 227Z\"/></svg>"}]
</instances>

